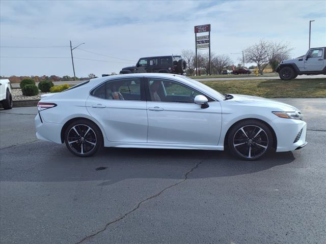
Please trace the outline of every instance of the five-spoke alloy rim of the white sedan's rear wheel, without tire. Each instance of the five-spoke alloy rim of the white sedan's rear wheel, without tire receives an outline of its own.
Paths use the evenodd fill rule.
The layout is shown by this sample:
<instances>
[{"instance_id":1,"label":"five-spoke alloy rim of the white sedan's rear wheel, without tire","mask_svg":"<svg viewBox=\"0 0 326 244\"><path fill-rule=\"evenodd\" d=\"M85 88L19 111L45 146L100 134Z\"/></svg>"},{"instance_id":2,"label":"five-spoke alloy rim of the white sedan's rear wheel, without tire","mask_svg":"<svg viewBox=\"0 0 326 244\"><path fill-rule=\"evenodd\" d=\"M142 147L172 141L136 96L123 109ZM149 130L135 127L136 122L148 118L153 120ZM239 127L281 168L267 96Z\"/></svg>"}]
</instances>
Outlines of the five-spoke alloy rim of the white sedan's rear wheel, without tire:
<instances>
[{"instance_id":1,"label":"five-spoke alloy rim of the white sedan's rear wheel, without tire","mask_svg":"<svg viewBox=\"0 0 326 244\"><path fill-rule=\"evenodd\" d=\"M69 147L77 154L84 155L94 150L97 138L93 129L87 125L75 125L67 137Z\"/></svg>"}]
</instances>

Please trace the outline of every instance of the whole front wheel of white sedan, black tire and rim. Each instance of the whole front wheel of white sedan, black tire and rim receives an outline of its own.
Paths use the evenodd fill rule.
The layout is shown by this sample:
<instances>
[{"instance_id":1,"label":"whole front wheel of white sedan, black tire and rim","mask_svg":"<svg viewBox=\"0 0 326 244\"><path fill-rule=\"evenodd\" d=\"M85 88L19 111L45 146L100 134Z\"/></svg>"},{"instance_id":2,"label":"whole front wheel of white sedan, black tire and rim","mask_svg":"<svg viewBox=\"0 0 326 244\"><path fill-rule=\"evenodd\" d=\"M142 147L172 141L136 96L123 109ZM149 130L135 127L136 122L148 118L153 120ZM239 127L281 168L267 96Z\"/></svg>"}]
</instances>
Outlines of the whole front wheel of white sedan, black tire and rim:
<instances>
[{"instance_id":1,"label":"whole front wheel of white sedan, black tire and rim","mask_svg":"<svg viewBox=\"0 0 326 244\"><path fill-rule=\"evenodd\" d=\"M228 134L231 153L243 160L257 160L273 146L273 134L261 121L248 119L235 124Z\"/></svg>"}]
</instances>

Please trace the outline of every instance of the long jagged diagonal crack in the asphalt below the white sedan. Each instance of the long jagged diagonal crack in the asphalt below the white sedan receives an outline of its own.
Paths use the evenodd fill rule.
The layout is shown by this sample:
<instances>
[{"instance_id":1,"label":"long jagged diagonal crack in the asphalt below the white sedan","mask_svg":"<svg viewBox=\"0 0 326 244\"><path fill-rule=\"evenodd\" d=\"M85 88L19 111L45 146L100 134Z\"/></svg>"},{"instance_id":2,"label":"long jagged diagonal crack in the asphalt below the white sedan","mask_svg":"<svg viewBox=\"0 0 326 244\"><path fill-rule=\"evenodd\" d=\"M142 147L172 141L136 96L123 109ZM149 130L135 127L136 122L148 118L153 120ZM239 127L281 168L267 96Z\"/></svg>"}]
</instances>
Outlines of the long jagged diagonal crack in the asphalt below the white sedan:
<instances>
[{"instance_id":1,"label":"long jagged diagonal crack in the asphalt below the white sedan","mask_svg":"<svg viewBox=\"0 0 326 244\"><path fill-rule=\"evenodd\" d=\"M134 207L132 210L128 211L128 212L127 212L126 214L124 214L122 217L119 217L118 219L116 219L116 220L114 220L114 221L108 222L108 223L107 223L107 224L106 224L102 229L100 229L99 231L97 231L97 232L94 233L94 234L91 234L91 235L88 235L88 236L84 237L82 240L76 242L76 244L80 244L80 243L82 243L82 242L84 242L84 241L86 241L86 240L89 240L89 239L91 239L92 237L96 236L97 234L99 234L99 233L105 231L105 230L107 229L108 226L110 226L110 225L112 225L112 224L114 224L114 223L116 223L116 222L118 222L118 221L120 221L120 220L126 218L126 217L127 217L128 215L130 215L133 211L137 210L137 209L141 206L142 203L144 203L144 202L146 202L146 201L148 201L148 200L150 200L150 199L156 198L156 197L158 197L159 195L161 195L163 192L165 192L166 190L168 190L168 189L170 189L170 188L172 188L172 187L175 187L175 186L181 184L182 182L186 181L187 178L188 178L188 174L190 174L191 172L193 172L193 171L194 171L196 168L198 168L198 166L200 166L203 162L204 162L204 160L200 161L199 163L195 164L194 167L192 167L190 170L188 170L188 171L184 174L184 179L183 179L183 180L181 180L181 181L179 181L179 182L177 182L177 183L175 183L175 184L173 184L173 185L171 185L171 186L169 186L169 187L164 188L164 189L161 190L160 192L158 192L158 193L156 193L156 194L154 194L154 195L152 195L152 196L146 198L145 200L140 201L140 202L137 204L136 207Z\"/></svg>"}]
</instances>

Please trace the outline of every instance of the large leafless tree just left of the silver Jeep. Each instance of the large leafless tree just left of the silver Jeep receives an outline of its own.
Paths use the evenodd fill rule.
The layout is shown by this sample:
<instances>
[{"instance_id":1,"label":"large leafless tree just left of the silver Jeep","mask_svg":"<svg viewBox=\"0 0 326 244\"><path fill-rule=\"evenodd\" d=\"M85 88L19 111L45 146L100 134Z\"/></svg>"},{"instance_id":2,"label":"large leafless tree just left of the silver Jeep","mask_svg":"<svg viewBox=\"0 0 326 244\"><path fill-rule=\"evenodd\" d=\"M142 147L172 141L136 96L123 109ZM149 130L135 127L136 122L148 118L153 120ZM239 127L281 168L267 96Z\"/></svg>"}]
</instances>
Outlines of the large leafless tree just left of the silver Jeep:
<instances>
[{"instance_id":1,"label":"large leafless tree just left of the silver Jeep","mask_svg":"<svg viewBox=\"0 0 326 244\"><path fill-rule=\"evenodd\" d=\"M272 60L276 57L284 57L290 51L291 49L287 44L260 40L258 43L244 50L244 58L247 63L255 63L259 73L263 74L264 69Z\"/></svg>"}]
</instances>

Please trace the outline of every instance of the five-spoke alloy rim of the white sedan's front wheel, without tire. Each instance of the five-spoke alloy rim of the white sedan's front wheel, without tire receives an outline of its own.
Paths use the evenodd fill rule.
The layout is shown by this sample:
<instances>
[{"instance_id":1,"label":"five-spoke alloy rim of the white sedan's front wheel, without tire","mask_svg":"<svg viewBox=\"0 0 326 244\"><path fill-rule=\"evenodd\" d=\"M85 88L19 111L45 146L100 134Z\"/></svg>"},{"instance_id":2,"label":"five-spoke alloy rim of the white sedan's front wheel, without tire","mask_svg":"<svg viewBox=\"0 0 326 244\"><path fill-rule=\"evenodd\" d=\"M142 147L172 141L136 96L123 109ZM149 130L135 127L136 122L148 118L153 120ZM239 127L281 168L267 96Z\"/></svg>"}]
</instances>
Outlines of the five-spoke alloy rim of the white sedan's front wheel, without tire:
<instances>
[{"instance_id":1,"label":"five-spoke alloy rim of the white sedan's front wheel, without tire","mask_svg":"<svg viewBox=\"0 0 326 244\"><path fill-rule=\"evenodd\" d=\"M243 126L234 134L233 147L243 158L259 158L267 150L268 136L266 132L258 126Z\"/></svg>"}]
</instances>

